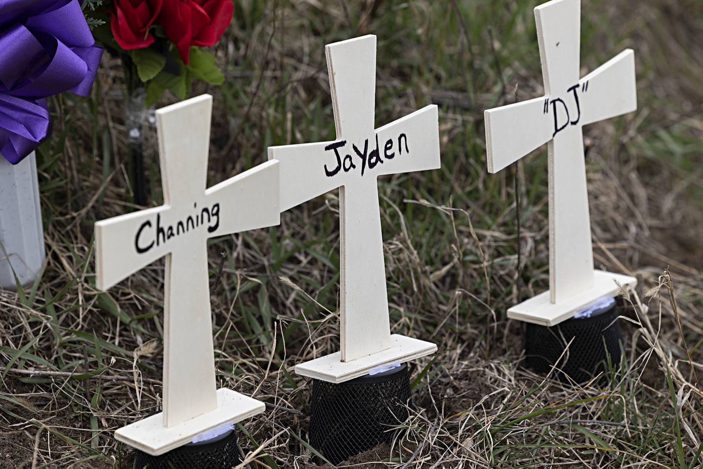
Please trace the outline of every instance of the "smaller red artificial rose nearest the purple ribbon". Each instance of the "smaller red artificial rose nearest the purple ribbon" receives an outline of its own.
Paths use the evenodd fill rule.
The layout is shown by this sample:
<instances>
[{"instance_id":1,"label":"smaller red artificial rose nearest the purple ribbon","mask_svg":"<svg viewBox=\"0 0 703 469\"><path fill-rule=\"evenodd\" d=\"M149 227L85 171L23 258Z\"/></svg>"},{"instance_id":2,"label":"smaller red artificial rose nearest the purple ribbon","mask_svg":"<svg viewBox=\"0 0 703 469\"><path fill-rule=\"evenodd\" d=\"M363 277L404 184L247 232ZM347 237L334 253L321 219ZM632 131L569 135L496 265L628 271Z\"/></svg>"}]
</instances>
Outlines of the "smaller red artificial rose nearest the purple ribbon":
<instances>
[{"instance_id":1,"label":"smaller red artificial rose nearest the purple ribbon","mask_svg":"<svg viewBox=\"0 0 703 469\"><path fill-rule=\"evenodd\" d=\"M163 2L164 0L115 0L110 27L122 49L143 49L153 43L154 37L149 28L160 13Z\"/></svg>"}]
</instances>

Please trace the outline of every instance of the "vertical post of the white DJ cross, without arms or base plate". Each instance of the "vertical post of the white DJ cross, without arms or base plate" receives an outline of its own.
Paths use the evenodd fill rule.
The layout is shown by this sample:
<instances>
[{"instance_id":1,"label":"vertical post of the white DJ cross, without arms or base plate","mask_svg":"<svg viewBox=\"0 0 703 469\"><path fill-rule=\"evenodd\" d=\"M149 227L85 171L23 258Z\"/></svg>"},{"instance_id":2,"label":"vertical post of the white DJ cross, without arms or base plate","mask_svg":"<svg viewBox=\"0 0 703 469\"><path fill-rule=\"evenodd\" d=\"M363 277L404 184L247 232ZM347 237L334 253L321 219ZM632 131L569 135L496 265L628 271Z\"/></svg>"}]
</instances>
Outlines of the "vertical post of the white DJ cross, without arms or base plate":
<instances>
[{"instance_id":1,"label":"vertical post of the white DJ cross, without arms or base plate","mask_svg":"<svg viewBox=\"0 0 703 469\"><path fill-rule=\"evenodd\" d=\"M572 106L579 99L579 65L581 45L581 4L561 1L535 8L537 36L548 96L563 96L551 100L548 114L562 127L558 112L560 103ZM574 94L569 89L576 85ZM590 96L589 96L590 98ZM558 101L558 100L565 101ZM576 105L577 113L581 113ZM550 109L551 108L551 109ZM568 111L567 111L568 112ZM591 218L588 212L586 162L583 155L583 134L580 115L569 116L559 138L548 143L549 159L549 271L550 301L562 302L581 290L593 287L593 249L591 248ZM555 158L558 155L558 158ZM556 231L556 227L560 231ZM557 254L558 253L558 254ZM551 262L551 260L550 260Z\"/></svg>"}]
</instances>

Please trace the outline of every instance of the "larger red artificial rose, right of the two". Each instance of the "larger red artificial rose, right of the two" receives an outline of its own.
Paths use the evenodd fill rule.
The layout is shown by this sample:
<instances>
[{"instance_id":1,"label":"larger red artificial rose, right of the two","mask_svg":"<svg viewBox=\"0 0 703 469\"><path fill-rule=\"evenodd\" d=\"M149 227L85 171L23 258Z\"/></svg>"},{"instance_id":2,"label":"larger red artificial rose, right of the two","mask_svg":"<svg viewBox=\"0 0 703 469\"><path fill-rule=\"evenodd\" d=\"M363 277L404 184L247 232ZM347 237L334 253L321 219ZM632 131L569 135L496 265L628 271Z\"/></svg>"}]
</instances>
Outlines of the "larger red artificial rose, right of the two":
<instances>
[{"instance_id":1,"label":"larger red artificial rose, right of the two","mask_svg":"<svg viewBox=\"0 0 703 469\"><path fill-rule=\"evenodd\" d=\"M232 0L165 0L157 23L176 44L184 63L191 46L212 46L232 20Z\"/></svg>"}]
</instances>

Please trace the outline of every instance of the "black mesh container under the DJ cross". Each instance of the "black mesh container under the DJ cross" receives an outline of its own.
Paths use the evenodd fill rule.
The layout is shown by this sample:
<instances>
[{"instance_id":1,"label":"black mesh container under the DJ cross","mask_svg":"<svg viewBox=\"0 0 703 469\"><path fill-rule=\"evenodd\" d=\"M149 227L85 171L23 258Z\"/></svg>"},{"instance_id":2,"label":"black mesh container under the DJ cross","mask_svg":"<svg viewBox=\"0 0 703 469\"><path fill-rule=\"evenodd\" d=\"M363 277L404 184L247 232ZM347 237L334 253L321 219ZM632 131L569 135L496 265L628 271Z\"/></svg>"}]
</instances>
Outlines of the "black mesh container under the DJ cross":
<instances>
[{"instance_id":1,"label":"black mesh container under the DJ cross","mask_svg":"<svg viewBox=\"0 0 703 469\"><path fill-rule=\"evenodd\" d=\"M617 304L612 304L594 311L588 318L567 319L557 326L527 323L525 365L537 373L546 374L556 364L556 368L560 369L555 368L555 378L564 382L569 378L576 383L593 379L601 371L607 371L608 355L613 364L620 362L620 324L615 320L617 316ZM572 338L574 342L564 353ZM607 373L603 378L607 380Z\"/></svg>"}]
</instances>

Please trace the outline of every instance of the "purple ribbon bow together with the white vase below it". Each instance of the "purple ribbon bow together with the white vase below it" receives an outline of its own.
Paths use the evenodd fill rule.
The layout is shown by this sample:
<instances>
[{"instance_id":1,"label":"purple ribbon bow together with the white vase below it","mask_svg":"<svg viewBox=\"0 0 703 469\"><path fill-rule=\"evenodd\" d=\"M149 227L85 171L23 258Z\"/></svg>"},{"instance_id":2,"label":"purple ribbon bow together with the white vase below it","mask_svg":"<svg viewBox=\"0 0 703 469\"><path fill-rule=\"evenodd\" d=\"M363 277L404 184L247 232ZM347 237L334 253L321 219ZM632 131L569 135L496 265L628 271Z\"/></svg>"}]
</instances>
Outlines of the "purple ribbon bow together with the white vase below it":
<instances>
[{"instance_id":1,"label":"purple ribbon bow together with the white vase below it","mask_svg":"<svg viewBox=\"0 0 703 469\"><path fill-rule=\"evenodd\" d=\"M46 98L88 96L102 54L77 0L0 5L1 289L33 283L44 264L34 150L51 135Z\"/></svg>"}]
</instances>

